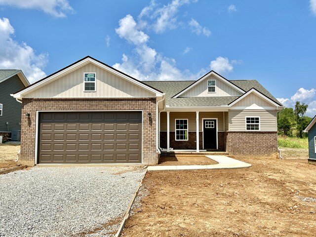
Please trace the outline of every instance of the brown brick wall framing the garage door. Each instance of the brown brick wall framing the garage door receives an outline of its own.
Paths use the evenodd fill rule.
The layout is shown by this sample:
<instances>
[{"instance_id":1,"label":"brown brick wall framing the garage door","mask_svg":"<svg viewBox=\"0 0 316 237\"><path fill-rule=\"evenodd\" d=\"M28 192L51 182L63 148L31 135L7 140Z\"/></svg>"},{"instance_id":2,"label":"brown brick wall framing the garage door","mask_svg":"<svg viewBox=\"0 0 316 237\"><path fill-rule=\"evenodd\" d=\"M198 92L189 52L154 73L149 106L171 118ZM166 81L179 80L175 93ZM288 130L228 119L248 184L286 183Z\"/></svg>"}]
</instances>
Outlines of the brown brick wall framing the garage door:
<instances>
[{"instance_id":1,"label":"brown brick wall framing the garage door","mask_svg":"<svg viewBox=\"0 0 316 237\"><path fill-rule=\"evenodd\" d=\"M22 116L21 158L23 164L34 165L36 111L58 110L142 110L143 111L143 164L157 164L156 151L156 98L132 99L23 99L22 115L30 113L30 118ZM148 113L152 114L148 118Z\"/></svg>"}]
</instances>

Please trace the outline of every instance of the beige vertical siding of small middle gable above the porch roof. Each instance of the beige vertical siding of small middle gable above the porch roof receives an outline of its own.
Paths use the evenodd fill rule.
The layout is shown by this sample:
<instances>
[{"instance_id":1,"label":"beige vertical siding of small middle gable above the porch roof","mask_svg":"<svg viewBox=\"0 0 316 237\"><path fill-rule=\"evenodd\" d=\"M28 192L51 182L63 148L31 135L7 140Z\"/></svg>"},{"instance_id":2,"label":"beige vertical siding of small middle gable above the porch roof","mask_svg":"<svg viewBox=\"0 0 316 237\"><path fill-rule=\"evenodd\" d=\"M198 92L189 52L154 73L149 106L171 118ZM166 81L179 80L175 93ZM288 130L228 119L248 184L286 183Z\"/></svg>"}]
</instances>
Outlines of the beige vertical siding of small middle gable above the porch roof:
<instances>
[{"instance_id":1,"label":"beige vertical siding of small middle gable above the porch roof","mask_svg":"<svg viewBox=\"0 0 316 237\"><path fill-rule=\"evenodd\" d=\"M216 92L208 93L207 80L216 81ZM239 91L233 88L231 85L223 82L221 79L217 79L214 76L209 76L203 81L199 82L196 86L185 92L181 97L186 96L236 96L241 95Z\"/></svg>"}]
</instances>

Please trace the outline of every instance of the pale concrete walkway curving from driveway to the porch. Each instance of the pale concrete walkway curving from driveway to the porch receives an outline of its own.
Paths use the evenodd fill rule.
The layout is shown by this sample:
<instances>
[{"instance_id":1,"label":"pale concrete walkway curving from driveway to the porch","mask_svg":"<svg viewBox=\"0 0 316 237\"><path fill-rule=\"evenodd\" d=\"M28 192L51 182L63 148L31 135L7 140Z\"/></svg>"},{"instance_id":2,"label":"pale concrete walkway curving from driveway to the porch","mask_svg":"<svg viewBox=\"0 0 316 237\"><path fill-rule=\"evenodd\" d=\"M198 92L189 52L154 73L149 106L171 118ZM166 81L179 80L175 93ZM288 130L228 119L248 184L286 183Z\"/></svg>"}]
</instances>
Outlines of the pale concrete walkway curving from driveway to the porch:
<instances>
[{"instance_id":1,"label":"pale concrete walkway curving from driveway to the porch","mask_svg":"<svg viewBox=\"0 0 316 237\"><path fill-rule=\"evenodd\" d=\"M206 156L213 159L218 164L211 165L161 165L161 166L148 166L147 170L191 170L191 169L237 169L250 167L251 164L242 162L237 159L229 158L226 156Z\"/></svg>"}]
</instances>

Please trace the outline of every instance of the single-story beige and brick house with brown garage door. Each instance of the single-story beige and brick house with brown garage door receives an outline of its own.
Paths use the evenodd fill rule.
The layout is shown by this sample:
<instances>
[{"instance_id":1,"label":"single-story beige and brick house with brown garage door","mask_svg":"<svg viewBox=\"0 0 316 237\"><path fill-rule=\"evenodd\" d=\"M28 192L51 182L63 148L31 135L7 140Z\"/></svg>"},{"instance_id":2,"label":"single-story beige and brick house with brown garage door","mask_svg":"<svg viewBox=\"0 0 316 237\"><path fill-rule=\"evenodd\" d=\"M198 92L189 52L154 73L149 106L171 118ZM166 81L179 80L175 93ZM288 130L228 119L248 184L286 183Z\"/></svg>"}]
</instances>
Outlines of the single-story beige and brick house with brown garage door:
<instances>
[{"instance_id":1,"label":"single-story beige and brick house with brown garage door","mask_svg":"<svg viewBox=\"0 0 316 237\"><path fill-rule=\"evenodd\" d=\"M196 81L139 81L85 57L14 93L21 162L157 164L161 153L278 156L283 106L256 80L211 71Z\"/></svg>"}]
</instances>

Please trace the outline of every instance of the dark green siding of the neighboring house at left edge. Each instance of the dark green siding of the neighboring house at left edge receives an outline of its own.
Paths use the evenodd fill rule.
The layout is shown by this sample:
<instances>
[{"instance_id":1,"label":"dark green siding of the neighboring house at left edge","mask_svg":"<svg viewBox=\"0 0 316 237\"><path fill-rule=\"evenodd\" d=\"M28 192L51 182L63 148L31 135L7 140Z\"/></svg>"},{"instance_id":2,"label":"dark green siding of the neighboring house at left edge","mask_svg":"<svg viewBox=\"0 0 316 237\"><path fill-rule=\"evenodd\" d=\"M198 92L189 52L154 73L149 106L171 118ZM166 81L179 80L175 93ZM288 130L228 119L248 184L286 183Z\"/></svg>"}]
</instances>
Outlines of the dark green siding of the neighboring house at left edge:
<instances>
[{"instance_id":1,"label":"dark green siding of the neighboring house at left edge","mask_svg":"<svg viewBox=\"0 0 316 237\"><path fill-rule=\"evenodd\" d=\"M22 104L17 102L10 94L25 88L20 78L15 75L0 83L0 104L3 106L0 116L0 131L20 130ZM9 124L6 125L5 122Z\"/></svg>"}]
</instances>

